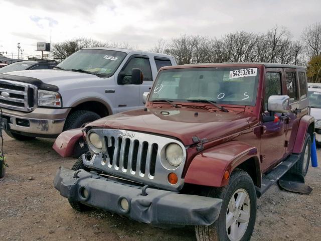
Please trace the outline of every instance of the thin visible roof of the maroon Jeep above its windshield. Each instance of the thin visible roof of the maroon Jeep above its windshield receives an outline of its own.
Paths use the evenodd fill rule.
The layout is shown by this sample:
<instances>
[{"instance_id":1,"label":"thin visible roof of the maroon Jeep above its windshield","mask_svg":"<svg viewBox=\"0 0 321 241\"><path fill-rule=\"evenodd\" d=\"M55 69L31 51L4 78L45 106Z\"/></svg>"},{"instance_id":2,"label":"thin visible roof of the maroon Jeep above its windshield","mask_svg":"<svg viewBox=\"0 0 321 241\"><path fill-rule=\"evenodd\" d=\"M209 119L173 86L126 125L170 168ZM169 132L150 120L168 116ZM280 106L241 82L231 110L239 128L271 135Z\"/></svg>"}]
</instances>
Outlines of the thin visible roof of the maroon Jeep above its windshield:
<instances>
[{"instance_id":1,"label":"thin visible roof of the maroon Jeep above its windshield","mask_svg":"<svg viewBox=\"0 0 321 241\"><path fill-rule=\"evenodd\" d=\"M202 68L202 67L253 67L264 66L265 68L297 68L305 71L305 68L298 65L275 64L275 63L212 63L212 64L184 64L177 66L166 66L161 69L181 69L181 68Z\"/></svg>"}]
</instances>

